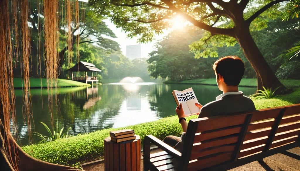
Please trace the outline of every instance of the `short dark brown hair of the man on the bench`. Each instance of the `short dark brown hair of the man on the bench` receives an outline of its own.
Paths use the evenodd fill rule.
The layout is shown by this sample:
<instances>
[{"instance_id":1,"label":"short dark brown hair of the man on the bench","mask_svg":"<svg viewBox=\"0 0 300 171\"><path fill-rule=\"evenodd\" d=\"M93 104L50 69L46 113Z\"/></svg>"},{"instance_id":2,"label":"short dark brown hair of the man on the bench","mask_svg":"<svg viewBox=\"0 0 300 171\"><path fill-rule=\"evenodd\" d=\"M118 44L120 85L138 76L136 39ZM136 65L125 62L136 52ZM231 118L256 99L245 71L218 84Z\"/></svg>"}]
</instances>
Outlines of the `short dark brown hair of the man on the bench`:
<instances>
[{"instance_id":1,"label":"short dark brown hair of the man on the bench","mask_svg":"<svg viewBox=\"0 0 300 171\"><path fill-rule=\"evenodd\" d=\"M212 66L214 73L222 75L227 86L238 86L245 72L245 65L237 56L221 57Z\"/></svg>"}]
</instances>

